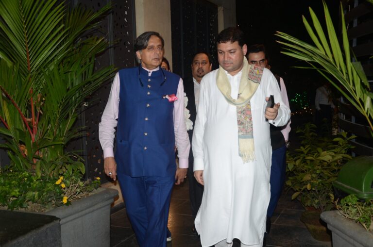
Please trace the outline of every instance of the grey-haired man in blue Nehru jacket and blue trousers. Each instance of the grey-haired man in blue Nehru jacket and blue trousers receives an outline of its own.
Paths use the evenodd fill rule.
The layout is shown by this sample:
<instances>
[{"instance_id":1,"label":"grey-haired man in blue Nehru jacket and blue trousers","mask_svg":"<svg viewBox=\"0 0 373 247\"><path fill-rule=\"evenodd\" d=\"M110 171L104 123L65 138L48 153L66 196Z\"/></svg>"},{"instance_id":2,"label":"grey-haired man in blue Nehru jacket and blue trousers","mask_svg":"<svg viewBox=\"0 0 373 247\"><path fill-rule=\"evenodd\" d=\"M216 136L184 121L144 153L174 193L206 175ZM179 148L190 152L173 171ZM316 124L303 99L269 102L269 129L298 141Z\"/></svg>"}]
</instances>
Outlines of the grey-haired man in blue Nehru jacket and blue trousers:
<instances>
[{"instance_id":1,"label":"grey-haired man in blue Nehru jacket and blue trousers","mask_svg":"<svg viewBox=\"0 0 373 247\"><path fill-rule=\"evenodd\" d=\"M160 68L163 48L159 33L137 37L140 66L116 74L99 125L105 173L113 180L118 176L140 247L166 246L172 186L184 181L188 167L183 81Z\"/></svg>"}]
</instances>

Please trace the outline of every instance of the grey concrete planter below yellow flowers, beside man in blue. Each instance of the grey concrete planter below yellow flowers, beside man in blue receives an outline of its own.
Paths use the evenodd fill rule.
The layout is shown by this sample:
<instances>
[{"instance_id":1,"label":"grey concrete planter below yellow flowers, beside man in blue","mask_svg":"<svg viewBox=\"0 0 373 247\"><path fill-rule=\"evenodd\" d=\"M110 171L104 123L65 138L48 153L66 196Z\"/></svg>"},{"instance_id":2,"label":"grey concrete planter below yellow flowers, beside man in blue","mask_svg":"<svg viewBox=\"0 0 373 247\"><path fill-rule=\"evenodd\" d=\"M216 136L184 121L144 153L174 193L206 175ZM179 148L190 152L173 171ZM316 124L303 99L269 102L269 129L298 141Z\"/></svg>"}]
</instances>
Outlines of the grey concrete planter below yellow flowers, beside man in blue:
<instances>
[{"instance_id":1,"label":"grey concrete planter below yellow flowers, beside man in blue","mask_svg":"<svg viewBox=\"0 0 373 247\"><path fill-rule=\"evenodd\" d=\"M44 214L61 219L62 247L109 247L110 204L118 191L99 188L96 194Z\"/></svg>"}]
</instances>

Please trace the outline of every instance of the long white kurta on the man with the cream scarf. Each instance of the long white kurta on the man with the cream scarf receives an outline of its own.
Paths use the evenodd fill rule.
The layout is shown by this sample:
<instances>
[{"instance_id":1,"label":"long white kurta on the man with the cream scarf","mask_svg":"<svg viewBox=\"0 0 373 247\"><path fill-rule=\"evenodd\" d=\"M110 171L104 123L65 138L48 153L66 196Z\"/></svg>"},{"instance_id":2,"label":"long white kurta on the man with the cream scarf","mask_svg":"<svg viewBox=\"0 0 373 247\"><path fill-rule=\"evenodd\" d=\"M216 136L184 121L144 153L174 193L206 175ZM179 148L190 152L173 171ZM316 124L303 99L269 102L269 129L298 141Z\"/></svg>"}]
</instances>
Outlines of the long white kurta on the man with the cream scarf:
<instances>
[{"instance_id":1,"label":"long white kurta on the man with the cream scarf","mask_svg":"<svg viewBox=\"0 0 373 247\"><path fill-rule=\"evenodd\" d=\"M254 129L254 162L243 163L238 156L236 107L229 104L216 86L218 70L201 82L197 119L193 132L194 170L203 171L202 205L195 219L203 247L237 238L245 245L261 245L270 200L270 123L283 126L290 117L282 102L278 83L264 69L261 82L250 100ZM241 72L227 74L232 98L237 99ZM266 97L280 102L276 119L266 121Z\"/></svg>"}]
</instances>

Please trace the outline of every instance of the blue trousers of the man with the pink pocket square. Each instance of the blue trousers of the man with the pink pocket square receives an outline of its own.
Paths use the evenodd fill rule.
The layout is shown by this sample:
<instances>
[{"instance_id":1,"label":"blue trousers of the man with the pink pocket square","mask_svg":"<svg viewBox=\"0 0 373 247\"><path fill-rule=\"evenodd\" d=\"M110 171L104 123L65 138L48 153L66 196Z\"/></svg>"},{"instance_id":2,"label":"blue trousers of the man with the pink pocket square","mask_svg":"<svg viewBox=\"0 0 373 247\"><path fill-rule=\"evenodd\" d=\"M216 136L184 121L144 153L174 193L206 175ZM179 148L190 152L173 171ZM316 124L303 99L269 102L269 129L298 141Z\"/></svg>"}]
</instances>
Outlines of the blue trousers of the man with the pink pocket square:
<instances>
[{"instance_id":1,"label":"blue trousers of the man with the pink pocket square","mask_svg":"<svg viewBox=\"0 0 373 247\"><path fill-rule=\"evenodd\" d=\"M118 174L118 181L140 247L166 247L170 198L175 176L136 177Z\"/></svg>"}]
</instances>

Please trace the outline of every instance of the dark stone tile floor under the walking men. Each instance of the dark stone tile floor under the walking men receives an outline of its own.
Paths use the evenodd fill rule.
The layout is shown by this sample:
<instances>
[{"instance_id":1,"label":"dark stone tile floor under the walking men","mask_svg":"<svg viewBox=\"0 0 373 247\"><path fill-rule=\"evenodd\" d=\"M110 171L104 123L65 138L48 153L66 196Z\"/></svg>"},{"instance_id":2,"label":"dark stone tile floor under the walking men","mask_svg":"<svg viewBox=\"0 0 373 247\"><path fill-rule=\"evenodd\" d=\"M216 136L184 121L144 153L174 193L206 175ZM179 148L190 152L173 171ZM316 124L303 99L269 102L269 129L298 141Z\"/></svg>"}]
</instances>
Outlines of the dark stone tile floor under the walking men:
<instances>
[{"instance_id":1,"label":"dark stone tile floor under the walking men","mask_svg":"<svg viewBox=\"0 0 373 247\"><path fill-rule=\"evenodd\" d=\"M304 209L298 201L291 201L290 194L286 195L284 191L279 200L271 219L272 226L267 238L267 247L331 247L330 242L321 242L312 238L299 219ZM167 244L167 247L201 247L199 237L191 232L192 226L186 181L173 189L169 216L172 241ZM138 247L125 208L111 215L110 246ZM239 241L235 240L233 247L239 246Z\"/></svg>"}]
</instances>

